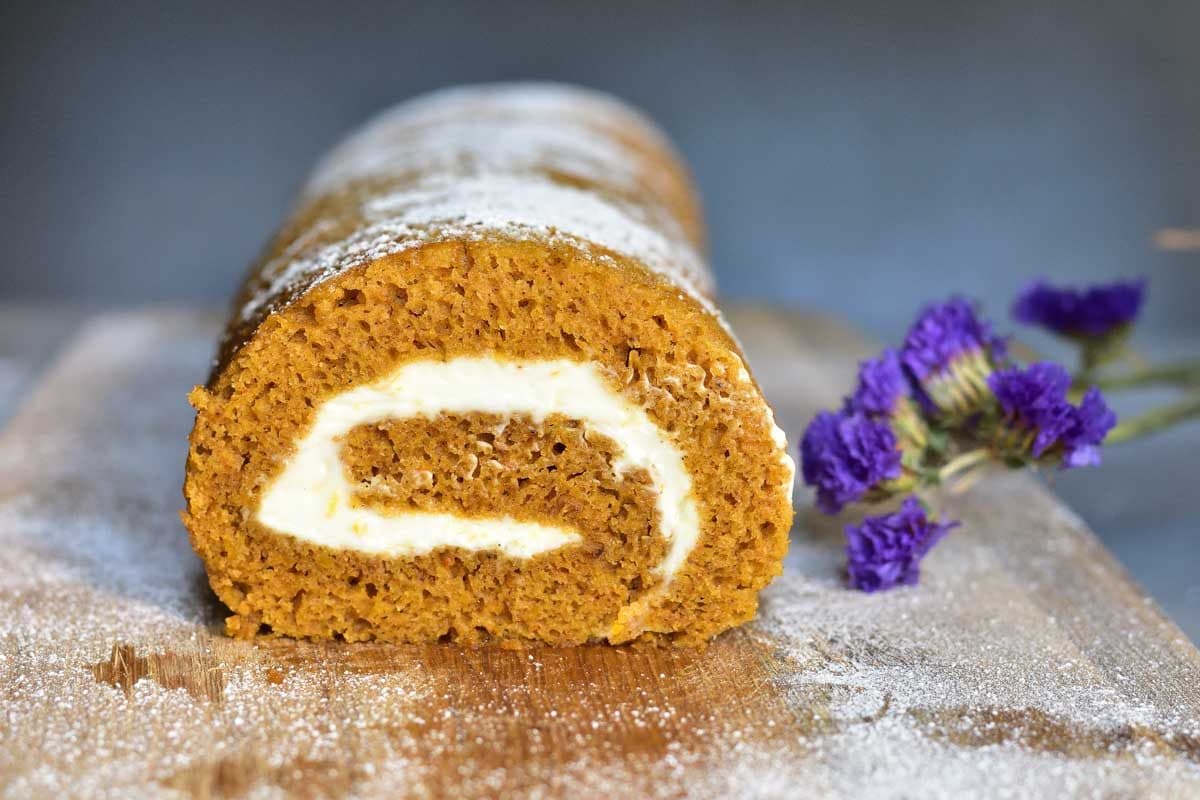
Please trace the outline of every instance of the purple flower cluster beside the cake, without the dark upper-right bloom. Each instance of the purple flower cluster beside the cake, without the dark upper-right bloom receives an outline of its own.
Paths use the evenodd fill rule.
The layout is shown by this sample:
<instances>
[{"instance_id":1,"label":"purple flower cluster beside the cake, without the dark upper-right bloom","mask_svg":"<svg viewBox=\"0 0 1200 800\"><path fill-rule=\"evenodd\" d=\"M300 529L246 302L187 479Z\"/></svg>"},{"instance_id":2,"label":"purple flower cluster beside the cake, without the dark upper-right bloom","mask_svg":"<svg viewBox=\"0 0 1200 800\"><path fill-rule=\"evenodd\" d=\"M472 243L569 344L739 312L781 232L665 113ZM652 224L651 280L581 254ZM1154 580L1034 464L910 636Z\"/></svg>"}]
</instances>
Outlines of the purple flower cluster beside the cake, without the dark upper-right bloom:
<instances>
[{"instance_id":1,"label":"purple flower cluster beside the cake, without the dark upper-right bloom","mask_svg":"<svg viewBox=\"0 0 1200 800\"><path fill-rule=\"evenodd\" d=\"M1142 287L1135 288L1127 319L1140 303ZM1093 319L1094 307L1086 314ZM800 441L804 482L816 489L817 507L838 513L859 500L956 480L986 462L1098 464L1116 415L1094 387L1072 404L1070 387L1070 375L1055 363L1009 368L1006 341L968 301L931 303L902 348L859 363L840 411L823 411L809 423ZM863 591L916 584L920 560L956 524L930 519L908 497L893 513L847 525L851 584Z\"/></svg>"}]
</instances>

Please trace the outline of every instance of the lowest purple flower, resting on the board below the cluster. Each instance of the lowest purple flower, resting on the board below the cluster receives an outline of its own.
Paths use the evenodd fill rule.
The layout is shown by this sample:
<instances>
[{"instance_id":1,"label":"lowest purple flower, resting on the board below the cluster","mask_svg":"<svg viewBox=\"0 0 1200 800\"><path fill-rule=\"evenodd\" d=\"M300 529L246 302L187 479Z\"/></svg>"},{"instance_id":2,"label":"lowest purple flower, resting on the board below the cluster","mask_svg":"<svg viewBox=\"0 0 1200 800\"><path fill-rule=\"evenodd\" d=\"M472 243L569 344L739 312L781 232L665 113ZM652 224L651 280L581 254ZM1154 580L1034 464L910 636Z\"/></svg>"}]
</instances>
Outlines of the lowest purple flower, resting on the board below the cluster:
<instances>
[{"instance_id":1,"label":"lowest purple flower, resting on the board below the cluster","mask_svg":"<svg viewBox=\"0 0 1200 800\"><path fill-rule=\"evenodd\" d=\"M917 498L908 497L893 513L846 525L846 571L851 585L860 591L916 585L920 579L920 560L958 524L929 519Z\"/></svg>"}]
</instances>

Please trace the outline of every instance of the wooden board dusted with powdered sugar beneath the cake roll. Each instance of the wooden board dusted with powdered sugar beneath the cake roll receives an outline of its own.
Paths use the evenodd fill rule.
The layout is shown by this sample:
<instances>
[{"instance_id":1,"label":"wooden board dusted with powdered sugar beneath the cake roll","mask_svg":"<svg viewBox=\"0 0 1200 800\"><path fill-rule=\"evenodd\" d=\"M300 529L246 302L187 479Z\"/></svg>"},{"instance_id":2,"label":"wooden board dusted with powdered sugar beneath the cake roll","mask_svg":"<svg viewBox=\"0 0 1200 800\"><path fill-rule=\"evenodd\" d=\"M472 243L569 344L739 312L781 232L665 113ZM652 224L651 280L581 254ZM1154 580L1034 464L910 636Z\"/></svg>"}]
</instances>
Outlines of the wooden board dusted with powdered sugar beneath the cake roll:
<instances>
[{"instance_id":1,"label":"wooden board dusted with powdered sugar beneath the cake roll","mask_svg":"<svg viewBox=\"0 0 1200 800\"><path fill-rule=\"evenodd\" d=\"M731 318L794 441L863 343ZM704 651L227 639L176 517L216 333L98 318L0 434L7 796L1200 796L1200 655L1028 476L874 596L798 494L760 619Z\"/></svg>"}]
</instances>

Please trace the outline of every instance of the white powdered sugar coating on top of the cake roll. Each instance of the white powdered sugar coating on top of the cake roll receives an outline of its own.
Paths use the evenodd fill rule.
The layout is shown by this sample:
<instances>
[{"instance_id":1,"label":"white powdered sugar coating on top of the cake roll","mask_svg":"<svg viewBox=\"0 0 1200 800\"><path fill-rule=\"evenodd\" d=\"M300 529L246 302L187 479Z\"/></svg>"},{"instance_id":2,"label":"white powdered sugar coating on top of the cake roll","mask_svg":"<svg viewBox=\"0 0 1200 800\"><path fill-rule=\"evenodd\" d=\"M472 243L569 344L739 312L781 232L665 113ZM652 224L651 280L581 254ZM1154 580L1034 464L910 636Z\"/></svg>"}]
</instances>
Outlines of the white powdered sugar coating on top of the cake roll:
<instances>
[{"instance_id":1,"label":"white powdered sugar coating on top of the cake roll","mask_svg":"<svg viewBox=\"0 0 1200 800\"><path fill-rule=\"evenodd\" d=\"M241 321L322 281L432 241L566 242L637 261L716 313L712 272L671 212L646 191L653 162L618 140L623 126L664 151L649 122L596 92L500 84L437 92L384 113L317 168L307 198L356 180L367 191L350 233L324 242L317 219L262 270ZM581 188L580 185L586 186Z\"/></svg>"}]
</instances>

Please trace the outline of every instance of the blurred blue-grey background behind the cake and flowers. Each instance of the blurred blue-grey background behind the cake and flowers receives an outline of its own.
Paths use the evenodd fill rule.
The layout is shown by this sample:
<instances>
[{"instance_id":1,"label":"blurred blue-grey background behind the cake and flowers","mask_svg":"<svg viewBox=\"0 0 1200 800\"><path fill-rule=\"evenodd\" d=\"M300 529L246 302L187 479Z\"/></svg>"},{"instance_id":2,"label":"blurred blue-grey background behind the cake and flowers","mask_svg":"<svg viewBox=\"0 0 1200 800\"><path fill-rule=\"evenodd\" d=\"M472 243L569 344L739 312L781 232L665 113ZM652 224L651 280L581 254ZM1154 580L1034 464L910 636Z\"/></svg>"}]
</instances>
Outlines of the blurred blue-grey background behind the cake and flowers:
<instances>
[{"instance_id":1,"label":"blurred blue-grey background behind the cake and flowers","mask_svg":"<svg viewBox=\"0 0 1200 800\"><path fill-rule=\"evenodd\" d=\"M514 78L667 128L728 297L894 339L922 299L1145 275L1144 348L1196 353L1200 253L1153 236L1200 228L1198 41L1196 0L6 2L0 403L80 308L223 303L379 107ZM1198 427L1058 485L1193 638Z\"/></svg>"}]
</instances>

